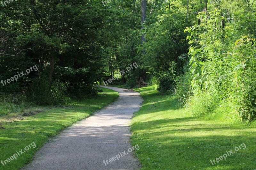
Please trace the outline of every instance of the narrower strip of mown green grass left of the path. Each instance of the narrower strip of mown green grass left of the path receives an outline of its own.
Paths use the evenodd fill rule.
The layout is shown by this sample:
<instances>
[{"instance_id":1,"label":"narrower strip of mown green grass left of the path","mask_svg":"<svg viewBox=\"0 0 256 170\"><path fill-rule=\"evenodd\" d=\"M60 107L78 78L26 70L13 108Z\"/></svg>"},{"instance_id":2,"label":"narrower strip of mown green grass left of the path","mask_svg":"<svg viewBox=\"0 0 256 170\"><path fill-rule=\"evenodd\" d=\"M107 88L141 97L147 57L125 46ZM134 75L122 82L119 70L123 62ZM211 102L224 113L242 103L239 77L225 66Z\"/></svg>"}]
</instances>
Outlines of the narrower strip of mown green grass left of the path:
<instances>
[{"instance_id":1,"label":"narrower strip of mown green grass left of the path","mask_svg":"<svg viewBox=\"0 0 256 170\"><path fill-rule=\"evenodd\" d=\"M17 160L11 160L7 165L0 165L0 169L19 169L31 162L35 152L56 136L60 130L82 120L93 112L101 109L118 98L118 92L101 88L97 99L88 99L82 102L73 101L67 108L39 108L44 112L33 116L23 117L21 113L12 113L0 117L0 161L10 158L16 151L35 142L36 147L29 149ZM32 108L38 110L38 108ZM24 149L22 150L24 151Z\"/></svg>"}]
</instances>

